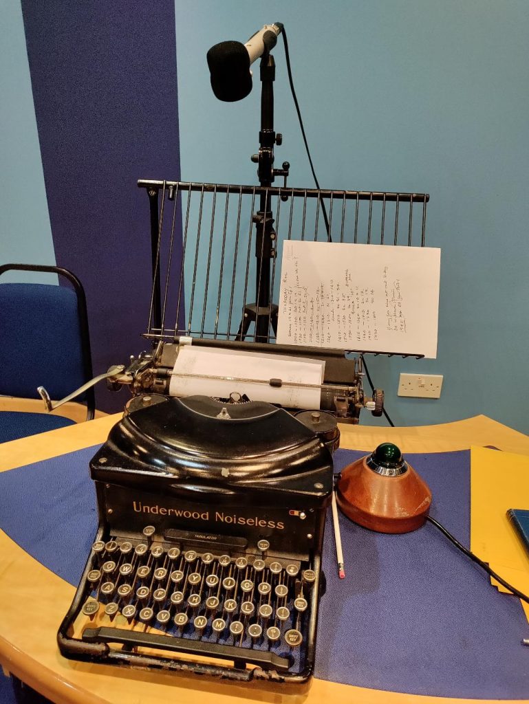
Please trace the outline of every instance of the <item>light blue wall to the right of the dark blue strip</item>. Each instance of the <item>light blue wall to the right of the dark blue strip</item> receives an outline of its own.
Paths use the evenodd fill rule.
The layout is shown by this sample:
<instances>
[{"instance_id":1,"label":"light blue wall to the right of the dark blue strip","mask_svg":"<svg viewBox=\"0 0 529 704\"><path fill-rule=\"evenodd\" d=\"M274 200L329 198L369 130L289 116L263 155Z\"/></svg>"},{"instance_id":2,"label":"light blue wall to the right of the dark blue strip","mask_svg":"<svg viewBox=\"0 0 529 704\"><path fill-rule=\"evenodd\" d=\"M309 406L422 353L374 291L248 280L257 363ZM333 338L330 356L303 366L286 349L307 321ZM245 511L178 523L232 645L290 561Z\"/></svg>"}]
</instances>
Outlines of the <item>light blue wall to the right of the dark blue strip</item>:
<instances>
[{"instance_id":1,"label":"light blue wall to the right of the dark blue strip","mask_svg":"<svg viewBox=\"0 0 529 704\"><path fill-rule=\"evenodd\" d=\"M205 54L281 21L322 187L430 193L427 244L442 248L437 360L369 364L394 422L485 413L528 432L529 4L176 0L175 8L182 180L256 182L259 80L244 101L220 103ZM281 40L274 54L275 128L284 135L276 161L292 164L291 185L310 187ZM398 398L400 372L444 375L442 397Z\"/></svg>"}]
</instances>

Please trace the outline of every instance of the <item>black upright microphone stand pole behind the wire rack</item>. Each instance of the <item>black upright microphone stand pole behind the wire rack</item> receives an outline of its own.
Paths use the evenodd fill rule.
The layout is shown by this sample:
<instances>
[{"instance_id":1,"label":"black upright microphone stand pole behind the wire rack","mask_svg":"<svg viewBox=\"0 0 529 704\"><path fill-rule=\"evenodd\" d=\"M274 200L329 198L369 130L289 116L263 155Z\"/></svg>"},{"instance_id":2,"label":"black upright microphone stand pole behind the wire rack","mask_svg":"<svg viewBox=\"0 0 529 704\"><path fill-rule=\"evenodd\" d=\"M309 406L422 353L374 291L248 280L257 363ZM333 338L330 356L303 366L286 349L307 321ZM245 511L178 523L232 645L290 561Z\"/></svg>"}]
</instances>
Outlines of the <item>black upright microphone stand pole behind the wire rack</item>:
<instances>
[{"instance_id":1,"label":"black upright microphone stand pole behind the wire rack","mask_svg":"<svg viewBox=\"0 0 529 704\"><path fill-rule=\"evenodd\" d=\"M282 134L275 134L273 128L275 61L270 51L261 56L261 130L259 132L259 154L251 156L251 161L258 164L257 177L263 191L259 195L259 210L252 218L256 225L256 303L245 304L242 321L239 325L236 341L242 341L247 335L252 322L255 322L255 341L270 342L270 325L274 334L278 332L278 306L271 303L270 265L277 256L276 237L273 229L272 210L268 187L273 184L275 176L287 176L290 164L284 161L282 169L273 168L274 146L282 143Z\"/></svg>"}]
</instances>

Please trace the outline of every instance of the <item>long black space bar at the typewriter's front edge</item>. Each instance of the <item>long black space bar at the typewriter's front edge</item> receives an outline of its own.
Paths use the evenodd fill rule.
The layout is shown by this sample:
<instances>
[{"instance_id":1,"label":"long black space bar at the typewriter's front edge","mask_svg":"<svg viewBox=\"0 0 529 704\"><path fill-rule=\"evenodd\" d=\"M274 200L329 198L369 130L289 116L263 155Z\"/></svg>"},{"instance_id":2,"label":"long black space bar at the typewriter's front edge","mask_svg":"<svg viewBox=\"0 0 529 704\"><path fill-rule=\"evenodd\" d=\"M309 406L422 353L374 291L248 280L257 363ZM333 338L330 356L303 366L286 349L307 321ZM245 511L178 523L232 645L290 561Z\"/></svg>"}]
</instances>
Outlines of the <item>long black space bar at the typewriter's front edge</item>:
<instances>
[{"instance_id":1,"label":"long black space bar at the typewriter's front edge","mask_svg":"<svg viewBox=\"0 0 529 704\"><path fill-rule=\"evenodd\" d=\"M213 655L225 660L244 660L261 667L274 667L275 670L286 671L290 667L287 658L280 658L269 650L254 650L254 648L237 648L236 646L223 646L221 643L207 643L206 641L192 641L187 638L163 636L156 633L141 633L139 631L125 631L119 628L87 628L82 634L83 641L87 643L123 643L126 646L145 646L146 648L163 648L175 650L189 655Z\"/></svg>"}]
</instances>

